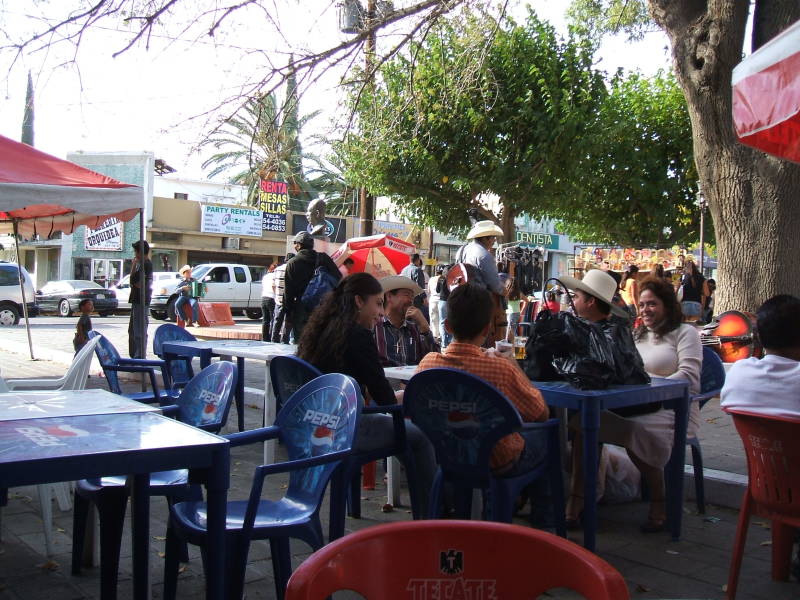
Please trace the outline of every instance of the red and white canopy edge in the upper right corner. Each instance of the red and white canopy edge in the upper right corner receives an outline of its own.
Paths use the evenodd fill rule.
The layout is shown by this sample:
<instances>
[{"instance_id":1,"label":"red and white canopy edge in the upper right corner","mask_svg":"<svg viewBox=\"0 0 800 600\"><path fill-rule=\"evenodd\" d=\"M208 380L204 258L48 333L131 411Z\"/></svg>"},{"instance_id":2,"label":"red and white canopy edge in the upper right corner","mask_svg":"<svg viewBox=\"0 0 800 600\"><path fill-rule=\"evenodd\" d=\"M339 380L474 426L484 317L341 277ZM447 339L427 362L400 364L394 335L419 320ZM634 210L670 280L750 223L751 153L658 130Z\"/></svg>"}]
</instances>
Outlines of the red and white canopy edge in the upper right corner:
<instances>
[{"instance_id":1,"label":"red and white canopy edge in the upper right corner","mask_svg":"<svg viewBox=\"0 0 800 600\"><path fill-rule=\"evenodd\" d=\"M739 141L800 162L800 22L739 63L731 85Z\"/></svg>"}]
</instances>

